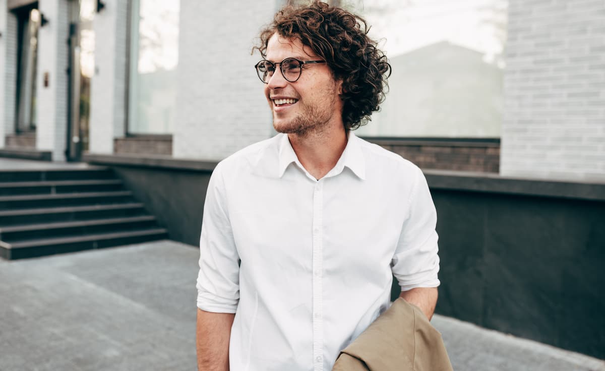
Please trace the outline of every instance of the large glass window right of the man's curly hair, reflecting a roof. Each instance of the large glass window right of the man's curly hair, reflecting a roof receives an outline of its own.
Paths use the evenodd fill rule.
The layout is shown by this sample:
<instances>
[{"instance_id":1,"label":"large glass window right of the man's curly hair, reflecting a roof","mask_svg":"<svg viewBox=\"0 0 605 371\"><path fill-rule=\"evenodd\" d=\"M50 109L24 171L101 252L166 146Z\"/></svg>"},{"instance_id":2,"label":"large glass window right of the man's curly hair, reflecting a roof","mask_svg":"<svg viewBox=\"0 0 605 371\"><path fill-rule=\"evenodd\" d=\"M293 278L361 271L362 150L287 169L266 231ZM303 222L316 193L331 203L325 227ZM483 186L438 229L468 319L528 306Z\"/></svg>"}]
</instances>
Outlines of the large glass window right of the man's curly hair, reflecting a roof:
<instances>
[{"instance_id":1,"label":"large glass window right of the man's curly hair, reflecting a roof","mask_svg":"<svg viewBox=\"0 0 605 371\"><path fill-rule=\"evenodd\" d=\"M499 137L508 0L353 1L393 67L359 135Z\"/></svg>"}]
</instances>

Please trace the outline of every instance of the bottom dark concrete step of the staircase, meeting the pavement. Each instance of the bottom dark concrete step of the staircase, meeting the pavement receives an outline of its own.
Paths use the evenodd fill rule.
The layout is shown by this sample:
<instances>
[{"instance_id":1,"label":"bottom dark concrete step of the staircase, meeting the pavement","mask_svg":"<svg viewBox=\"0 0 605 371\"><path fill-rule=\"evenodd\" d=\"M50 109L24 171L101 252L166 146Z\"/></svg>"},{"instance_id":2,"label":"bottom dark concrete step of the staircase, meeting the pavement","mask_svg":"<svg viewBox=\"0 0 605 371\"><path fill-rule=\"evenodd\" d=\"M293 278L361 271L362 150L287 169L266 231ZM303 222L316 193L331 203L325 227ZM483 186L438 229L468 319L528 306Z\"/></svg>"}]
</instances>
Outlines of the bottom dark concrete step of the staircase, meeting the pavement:
<instances>
[{"instance_id":1,"label":"bottom dark concrete step of the staircase, meeting the pavement","mask_svg":"<svg viewBox=\"0 0 605 371\"><path fill-rule=\"evenodd\" d=\"M64 254L88 249L108 248L168 238L164 228L149 228L128 232L100 233L76 237L44 238L15 243L0 241L0 257L14 260L44 255Z\"/></svg>"}]
</instances>

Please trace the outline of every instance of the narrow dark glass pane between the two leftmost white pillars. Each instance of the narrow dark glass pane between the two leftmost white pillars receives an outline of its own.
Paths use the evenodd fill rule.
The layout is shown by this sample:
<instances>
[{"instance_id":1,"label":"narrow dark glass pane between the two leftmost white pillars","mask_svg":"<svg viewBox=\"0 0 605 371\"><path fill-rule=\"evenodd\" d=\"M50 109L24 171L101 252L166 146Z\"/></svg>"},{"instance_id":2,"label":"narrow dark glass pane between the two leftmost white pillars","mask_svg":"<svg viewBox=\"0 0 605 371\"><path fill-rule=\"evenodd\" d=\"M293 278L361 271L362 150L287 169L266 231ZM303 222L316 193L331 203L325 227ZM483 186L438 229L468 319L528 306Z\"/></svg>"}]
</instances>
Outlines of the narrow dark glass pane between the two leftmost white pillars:
<instances>
[{"instance_id":1,"label":"narrow dark glass pane between the two leftmost white pillars","mask_svg":"<svg viewBox=\"0 0 605 371\"><path fill-rule=\"evenodd\" d=\"M19 18L19 86L18 114L16 131L36 130L36 65L38 60L38 28L40 12L31 9L26 16Z\"/></svg>"}]
</instances>

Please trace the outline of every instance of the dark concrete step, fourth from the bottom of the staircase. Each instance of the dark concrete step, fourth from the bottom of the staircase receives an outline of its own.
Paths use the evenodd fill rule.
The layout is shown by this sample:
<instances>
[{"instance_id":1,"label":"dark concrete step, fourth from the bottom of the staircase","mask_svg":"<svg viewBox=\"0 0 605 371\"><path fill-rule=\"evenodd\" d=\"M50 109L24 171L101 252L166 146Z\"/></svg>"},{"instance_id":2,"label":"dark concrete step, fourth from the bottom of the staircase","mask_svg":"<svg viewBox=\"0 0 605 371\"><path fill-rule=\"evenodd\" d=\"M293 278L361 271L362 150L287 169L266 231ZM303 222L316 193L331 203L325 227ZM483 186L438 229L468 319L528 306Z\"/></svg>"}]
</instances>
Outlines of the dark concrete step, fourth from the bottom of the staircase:
<instances>
[{"instance_id":1,"label":"dark concrete step, fourth from the bottom of the staircase","mask_svg":"<svg viewBox=\"0 0 605 371\"><path fill-rule=\"evenodd\" d=\"M131 191L82 192L74 194L9 195L0 197L0 210L85 206L132 201Z\"/></svg>"}]
</instances>

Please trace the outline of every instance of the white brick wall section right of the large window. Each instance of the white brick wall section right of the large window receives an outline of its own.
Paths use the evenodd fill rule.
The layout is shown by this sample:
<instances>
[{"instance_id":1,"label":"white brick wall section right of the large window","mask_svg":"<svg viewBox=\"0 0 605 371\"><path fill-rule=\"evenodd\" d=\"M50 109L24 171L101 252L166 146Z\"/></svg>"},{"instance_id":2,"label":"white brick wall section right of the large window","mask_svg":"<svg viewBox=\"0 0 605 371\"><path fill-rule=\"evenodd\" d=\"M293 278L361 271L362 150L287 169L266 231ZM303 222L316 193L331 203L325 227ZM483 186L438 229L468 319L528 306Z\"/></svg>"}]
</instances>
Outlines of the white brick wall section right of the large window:
<instances>
[{"instance_id":1,"label":"white brick wall section right of the large window","mask_svg":"<svg viewBox=\"0 0 605 371\"><path fill-rule=\"evenodd\" d=\"M605 1L510 0L500 173L605 180Z\"/></svg>"}]
</instances>

